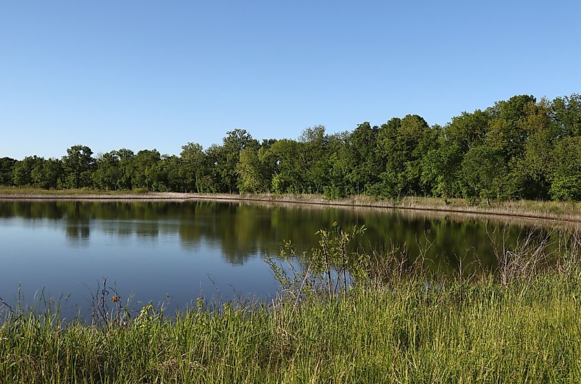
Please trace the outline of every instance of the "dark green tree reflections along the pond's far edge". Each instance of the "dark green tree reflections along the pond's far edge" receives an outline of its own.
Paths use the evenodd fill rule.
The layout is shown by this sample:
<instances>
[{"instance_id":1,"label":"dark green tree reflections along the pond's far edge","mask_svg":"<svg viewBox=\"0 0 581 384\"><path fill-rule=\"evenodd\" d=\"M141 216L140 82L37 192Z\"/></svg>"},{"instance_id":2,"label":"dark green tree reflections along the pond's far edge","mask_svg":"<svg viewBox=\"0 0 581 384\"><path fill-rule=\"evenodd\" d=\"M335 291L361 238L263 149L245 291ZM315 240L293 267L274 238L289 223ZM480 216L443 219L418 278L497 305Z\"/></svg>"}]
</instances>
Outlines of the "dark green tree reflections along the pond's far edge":
<instances>
[{"instance_id":1,"label":"dark green tree reflections along the pond's far edge","mask_svg":"<svg viewBox=\"0 0 581 384\"><path fill-rule=\"evenodd\" d=\"M256 254L278 254L282 240L293 240L298 249L310 249L317 243L316 231L336 221L343 227L366 225L366 235L360 239L366 249L384 249L395 243L413 256L425 251L439 269L453 269L459 260L476 259L493 266L491 238L500 241L502 237L510 244L527 229L523 224L505 228L503 223L478 218L209 201L12 201L0 203L0 218L62 223L69 244L76 247L89 247L94 233L121 242L133 236L140 242L177 236L186 251L214 244L227 262L237 265ZM536 236L547 236L550 230L536 229Z\"/></svg>"}]
</instances>

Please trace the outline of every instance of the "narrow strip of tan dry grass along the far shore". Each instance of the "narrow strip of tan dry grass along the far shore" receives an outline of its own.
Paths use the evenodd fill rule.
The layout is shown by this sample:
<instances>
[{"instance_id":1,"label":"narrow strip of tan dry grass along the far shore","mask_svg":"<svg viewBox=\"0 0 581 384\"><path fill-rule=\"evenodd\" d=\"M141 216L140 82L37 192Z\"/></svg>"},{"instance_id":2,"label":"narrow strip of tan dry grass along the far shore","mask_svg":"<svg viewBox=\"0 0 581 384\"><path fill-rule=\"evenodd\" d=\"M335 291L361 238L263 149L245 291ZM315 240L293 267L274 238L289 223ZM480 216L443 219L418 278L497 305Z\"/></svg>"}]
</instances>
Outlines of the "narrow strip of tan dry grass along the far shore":
<instances>
[{"instance_id":1,"label":"narrow strip of tan dry grass along the far shore","mask_svg":"<svg viewBox=\"0 0 581 384\"><path fill-rule=\"evenodd\" d=\"M43 191L44 192L44 191ZM0 201L248 201L256 203L316 205L321 207L364 207L370 209L407 210L441 214L467 214L542 220L551 222L581 223L581 204L555 201L500 201L490 206L470 205L462 199L408 197L399 201L373 199L369 196L351 196L346 199L328 200L321 195L276 194L197 194L182 192L67 192L46 191L28 193L14 190L0 192ZM561 210L561 212L558 212Z\"/></svg>"}]
</instances>

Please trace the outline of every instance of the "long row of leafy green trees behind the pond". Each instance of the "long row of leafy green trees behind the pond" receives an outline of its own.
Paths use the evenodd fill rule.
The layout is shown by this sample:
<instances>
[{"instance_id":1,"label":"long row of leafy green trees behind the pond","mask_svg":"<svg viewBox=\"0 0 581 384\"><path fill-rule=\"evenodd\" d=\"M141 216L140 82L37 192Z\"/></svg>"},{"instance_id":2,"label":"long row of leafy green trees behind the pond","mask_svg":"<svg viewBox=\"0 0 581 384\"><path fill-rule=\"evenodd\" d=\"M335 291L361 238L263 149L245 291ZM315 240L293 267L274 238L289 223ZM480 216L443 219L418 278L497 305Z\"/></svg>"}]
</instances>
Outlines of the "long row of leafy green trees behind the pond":
<instances>
[{"instance_id":1,"label":"long row of leafy green trees behind the pond","mask_svg":"<svg viewBox=\"0 0 581 384\"><path fill-rule=\"evenodd\" d=\"M581 200L581 95L516 95L444 125L419 115L369 122L329 135L256 140L244 129L177 155L88 146L61 159L0 159L0 185L199 193L367 194L490 199Z\"/></svg>"}]
</instances>

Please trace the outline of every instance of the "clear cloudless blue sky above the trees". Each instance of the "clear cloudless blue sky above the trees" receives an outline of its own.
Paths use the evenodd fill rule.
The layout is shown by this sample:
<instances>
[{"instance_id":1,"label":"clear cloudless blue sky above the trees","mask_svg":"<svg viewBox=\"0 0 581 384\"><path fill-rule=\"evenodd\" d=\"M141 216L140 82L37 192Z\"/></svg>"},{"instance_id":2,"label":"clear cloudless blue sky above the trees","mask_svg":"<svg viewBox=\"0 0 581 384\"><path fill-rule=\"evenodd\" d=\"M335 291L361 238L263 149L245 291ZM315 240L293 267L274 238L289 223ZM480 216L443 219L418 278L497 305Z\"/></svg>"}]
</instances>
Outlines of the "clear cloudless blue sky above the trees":
<instances>
[{"instance_id":1,"label":"clear cloudless blue sky above the trees","mask_svg":"<svg viewBox=\"0 0 581 384\"><path fill-rule=\"evenodd\" d=\"M581 93L578 1L1 1L0 157L445 124Z\"/></svg>"}]
</instances>

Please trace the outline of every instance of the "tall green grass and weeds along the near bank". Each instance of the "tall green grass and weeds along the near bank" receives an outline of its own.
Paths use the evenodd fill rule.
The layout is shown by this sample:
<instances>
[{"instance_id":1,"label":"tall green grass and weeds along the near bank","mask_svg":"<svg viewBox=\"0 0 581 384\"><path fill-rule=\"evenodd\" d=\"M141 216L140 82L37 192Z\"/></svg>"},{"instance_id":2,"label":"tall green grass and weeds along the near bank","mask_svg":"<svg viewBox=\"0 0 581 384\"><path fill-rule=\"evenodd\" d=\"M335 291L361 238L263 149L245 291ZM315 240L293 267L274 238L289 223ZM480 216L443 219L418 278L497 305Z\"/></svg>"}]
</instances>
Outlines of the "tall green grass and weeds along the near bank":
<instances>
[{"instance_id":1,"label":"tall green grass and weeds along the near bank","mask_svg":"<svg viewBox=\"0 0 581 384\"><path fill-rule=\"evenodd\" d=\"M341 244L329 241L328 257ZM579 383L579 244L505 249L505 271L438 281L392 255L331 294L327 266L305 264L270 303L199 300L171 317L146 306L98 325L14 311L0 326L0 383Z\"/></svg>"}]
</instances>

